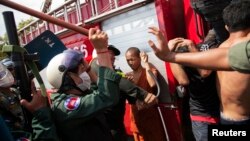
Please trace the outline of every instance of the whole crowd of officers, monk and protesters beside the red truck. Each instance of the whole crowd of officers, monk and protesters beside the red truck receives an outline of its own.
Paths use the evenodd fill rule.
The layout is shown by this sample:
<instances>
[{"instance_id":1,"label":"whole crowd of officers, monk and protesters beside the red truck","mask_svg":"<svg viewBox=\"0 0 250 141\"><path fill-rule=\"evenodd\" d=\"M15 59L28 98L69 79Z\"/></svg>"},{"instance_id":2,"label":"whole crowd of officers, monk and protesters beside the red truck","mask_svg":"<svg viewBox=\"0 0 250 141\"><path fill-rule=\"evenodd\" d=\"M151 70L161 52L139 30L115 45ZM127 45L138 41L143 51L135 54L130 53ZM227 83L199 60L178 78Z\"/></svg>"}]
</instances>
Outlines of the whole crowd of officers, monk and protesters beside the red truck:
<instances>
[{"instance_id":1,"label":"whole crowd of officers, monk and protesters beside the red truck","mask_svg":"<svg viewBox=\"0 0 250 141\"><path fill-rule=\"evenodd\" d=\"M167 41L157 27L148 31L157 39L157 44L148 42L155 55L171 63L175 79L186 89L196 141L208 139L211 124L250 124L250 1L225 0L217 12L209 11L209 4L204 8L192 1L213 27L214 35L204 44L209 40L216 44L206 49L182 37ZM223 14L211 16L213 12ZM50 60L46 77L56 91L48 97L49 104L34 83L32 100L20 99L14 64L10 59L1 61L1 140L167 141L157 111L156 82L149 74L157 77L158 70L147 53L128 47L124 56L132 71L123 72L114 65L121 52L108 44L104 31L90 28L89 40L96 52L90 63L73 49ZM133 137L123 122L126 101L131 105ZM24 127L23 108L33 114L32 131Z\"/></svg>"}]
</instances>

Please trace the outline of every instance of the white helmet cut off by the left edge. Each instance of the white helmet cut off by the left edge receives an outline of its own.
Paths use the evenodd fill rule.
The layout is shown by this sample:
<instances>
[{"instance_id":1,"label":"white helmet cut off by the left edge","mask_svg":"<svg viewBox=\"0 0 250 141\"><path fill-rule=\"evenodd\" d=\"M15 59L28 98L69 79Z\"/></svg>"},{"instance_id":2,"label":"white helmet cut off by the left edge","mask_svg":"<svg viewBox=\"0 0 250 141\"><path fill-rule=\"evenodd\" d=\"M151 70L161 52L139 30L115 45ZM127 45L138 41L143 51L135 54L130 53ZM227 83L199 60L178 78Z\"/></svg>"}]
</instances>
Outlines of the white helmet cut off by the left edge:
<instances>
[{"instance_id":1,"label":"white helmet cut off by the left edge","mask_svg":"<svg viewBox=\"0 0 250 141\"><path fill-rule=\"evenodd\" d=\"M14 84L14 77L5 65L0 63L0 87L10 87Z\"/></svg>"}]
</instances>

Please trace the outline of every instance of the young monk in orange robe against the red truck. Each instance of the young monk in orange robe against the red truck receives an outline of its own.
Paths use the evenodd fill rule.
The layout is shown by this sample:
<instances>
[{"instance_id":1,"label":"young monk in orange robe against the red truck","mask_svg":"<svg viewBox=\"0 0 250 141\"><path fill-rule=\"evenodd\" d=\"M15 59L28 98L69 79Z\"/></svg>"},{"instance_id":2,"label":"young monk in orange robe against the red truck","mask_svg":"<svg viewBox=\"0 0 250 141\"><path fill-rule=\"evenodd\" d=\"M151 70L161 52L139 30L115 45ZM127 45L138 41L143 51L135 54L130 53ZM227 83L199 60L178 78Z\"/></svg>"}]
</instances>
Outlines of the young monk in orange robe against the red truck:
<instances>
[{"instance_id":1,"label":"young monk in orange robe against the red truck","mask_svg":"<svg viewBox=\"0 0 250 141\"><path fill-rule=\"evenodd\" d=\"M132 69L132 72L126 73L127 79L148 92L156 93L156 82L148 71L157 77L157 70L148 62L148 55L145 52L140 53L136 47L131 47L127 49L125 57ZM141 61L145 68L142 67ZM156 105L143 110L131 105L131 131L135 141L166 140Z\"/></svg>"}]
</instances>

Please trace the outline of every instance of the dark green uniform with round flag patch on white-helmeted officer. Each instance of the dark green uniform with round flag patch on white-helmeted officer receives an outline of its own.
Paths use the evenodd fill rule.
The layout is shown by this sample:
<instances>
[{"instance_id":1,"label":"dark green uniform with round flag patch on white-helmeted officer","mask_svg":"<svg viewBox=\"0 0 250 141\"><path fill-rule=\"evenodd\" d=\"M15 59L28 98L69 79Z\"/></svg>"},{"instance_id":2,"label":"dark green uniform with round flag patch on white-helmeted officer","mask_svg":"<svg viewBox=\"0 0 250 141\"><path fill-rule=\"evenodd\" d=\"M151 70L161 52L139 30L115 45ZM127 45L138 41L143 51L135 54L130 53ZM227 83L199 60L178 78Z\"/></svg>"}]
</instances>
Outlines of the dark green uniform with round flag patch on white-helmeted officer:
<instances>
[{"instance_id":1,"label":"dark green uniform with round flag patch on white-helmeted officer","mask_svg":"<svg viewBox=\"0 0 250 141\"><path fill-rule=\"evenodd\" d=\"M93 90L82 96L64 93L51 95L51 108L62 140L112 140L103 111L118 102L121 77L105 67L100 67L99 72L98 91Z\"/></svg>"}]
</instances>

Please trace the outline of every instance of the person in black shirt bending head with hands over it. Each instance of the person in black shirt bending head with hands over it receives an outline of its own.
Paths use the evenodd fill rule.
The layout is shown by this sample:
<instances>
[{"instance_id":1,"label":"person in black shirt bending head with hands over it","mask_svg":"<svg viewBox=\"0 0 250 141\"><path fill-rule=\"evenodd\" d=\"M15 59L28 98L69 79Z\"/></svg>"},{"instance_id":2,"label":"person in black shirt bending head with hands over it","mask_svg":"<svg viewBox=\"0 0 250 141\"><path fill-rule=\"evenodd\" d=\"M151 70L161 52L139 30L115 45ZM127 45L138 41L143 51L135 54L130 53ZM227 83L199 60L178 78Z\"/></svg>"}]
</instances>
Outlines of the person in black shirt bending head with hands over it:
<instances>
[{"instance_id":1,"label":"person in black shirt bending head with hands over it","mask_svg":"<svg viewBox=\"0 0 250 141\"><path fill-rule=\"evenodd\" d=\"M170 51L187 53L200 49L191 41L175 38L168 42ZM187 48L184 52L182 48ZM212 48L212 47L208 47ZM220 101L216 91L216 72L171 63L171 70L177 82L187 89L190 119L196 141L208 140L208 125L218 124Z\"/></svg>"}]
</instances>

